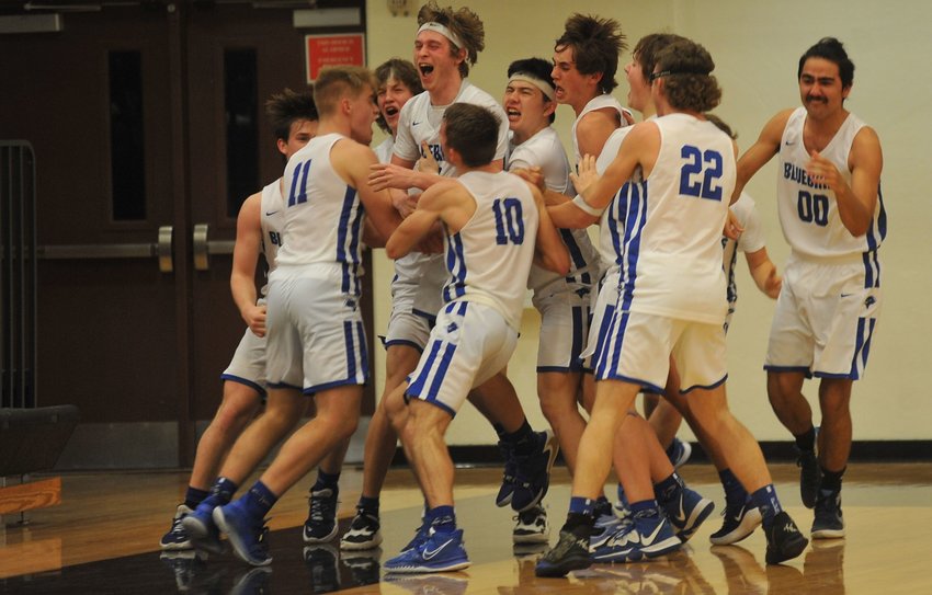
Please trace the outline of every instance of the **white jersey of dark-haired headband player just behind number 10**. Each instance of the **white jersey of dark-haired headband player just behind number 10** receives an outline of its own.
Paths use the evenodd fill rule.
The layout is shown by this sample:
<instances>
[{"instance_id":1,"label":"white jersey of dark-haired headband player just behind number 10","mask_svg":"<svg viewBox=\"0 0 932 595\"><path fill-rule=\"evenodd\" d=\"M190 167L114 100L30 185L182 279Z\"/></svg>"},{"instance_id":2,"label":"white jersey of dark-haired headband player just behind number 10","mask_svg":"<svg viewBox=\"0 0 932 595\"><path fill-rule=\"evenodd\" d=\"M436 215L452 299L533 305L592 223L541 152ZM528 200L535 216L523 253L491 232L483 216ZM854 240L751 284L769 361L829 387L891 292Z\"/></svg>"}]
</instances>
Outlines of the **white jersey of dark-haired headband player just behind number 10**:
<instances>
[{"instance_id":1,"label":"white jersey of dark-haired headband player just behind number 10","mask_svg":"<svg viewBox=\"0 0 932 595\"><path fill-rule=\"evenodd\" d=\"M544 183L549 190L566 196L576 194L569 180L569 161L567 161L562 142L557 131L550 126L542 128L518 146L513 145L512 135L509 134L508 149L505 170L538 167L544 173ZM599 273L599 255L592 247L589 233L584 229L560 229L559 232L570 255L570 271L566 277L562 277L536 264L531 266L527 288L535 295L561 278L566 278L569 283L591 285L592 275Z\"/></svg>"}]
</instances>

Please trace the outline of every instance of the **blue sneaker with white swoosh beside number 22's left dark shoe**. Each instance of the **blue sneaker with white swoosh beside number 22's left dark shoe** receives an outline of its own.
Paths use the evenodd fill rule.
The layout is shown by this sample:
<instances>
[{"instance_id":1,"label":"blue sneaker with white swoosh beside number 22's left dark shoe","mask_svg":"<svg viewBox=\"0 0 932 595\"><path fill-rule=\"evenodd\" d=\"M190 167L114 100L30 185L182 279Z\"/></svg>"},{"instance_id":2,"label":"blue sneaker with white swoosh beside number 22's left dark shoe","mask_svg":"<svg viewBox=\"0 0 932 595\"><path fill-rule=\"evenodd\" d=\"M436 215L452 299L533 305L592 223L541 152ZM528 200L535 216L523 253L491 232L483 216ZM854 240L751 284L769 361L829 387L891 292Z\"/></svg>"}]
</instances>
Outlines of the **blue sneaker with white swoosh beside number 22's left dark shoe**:
<instances>
[{"instance_id":1,"label":"blue sneaker with white swoosh beside number 22's left dark shoe","mask_svg":"<svg viewBox=\"0 0 932 595\"><path fill-rule=\"evenodd\" d=\"M675 551L683 542L659 511L643 511L592 551L593 562L636 562Z\"/></svg>"}]
</instances>

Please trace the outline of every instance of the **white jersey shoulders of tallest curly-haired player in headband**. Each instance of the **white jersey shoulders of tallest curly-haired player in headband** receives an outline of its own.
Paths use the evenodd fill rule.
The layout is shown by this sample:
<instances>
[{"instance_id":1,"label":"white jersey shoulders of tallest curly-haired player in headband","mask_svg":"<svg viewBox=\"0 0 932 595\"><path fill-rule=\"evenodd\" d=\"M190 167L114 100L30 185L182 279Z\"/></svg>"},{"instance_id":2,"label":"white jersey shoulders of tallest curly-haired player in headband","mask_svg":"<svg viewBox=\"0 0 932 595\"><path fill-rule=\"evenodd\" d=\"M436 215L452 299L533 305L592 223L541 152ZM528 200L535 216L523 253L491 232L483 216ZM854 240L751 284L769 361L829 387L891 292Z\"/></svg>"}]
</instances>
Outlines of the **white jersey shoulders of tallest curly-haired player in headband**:
<instances>
[{"instance_id":1,"label":"white jersey shoulders of tallest curly-haired player in headband","mask_svg":"<svg viewBox=\"0 0 932 595\"><path fill-rule=\"evenodd\" d=\"M480 105L491 111L499 118L499 138L496 147L496 159L504 159L508 150L508 116L501 105L488 93L463 80L459 92L453 103L469 103ZM432 105L430 93L424 91L409 99L401 107L398 119L398 135L395 138L395 155L406 161L417 161L421 157L421 142L425 141L433 158L440 165L440 174L448 178L456 176L456 171L443 157L440 146L440 124L443 113L448 105Z\"/></svg>"}]
</instances>

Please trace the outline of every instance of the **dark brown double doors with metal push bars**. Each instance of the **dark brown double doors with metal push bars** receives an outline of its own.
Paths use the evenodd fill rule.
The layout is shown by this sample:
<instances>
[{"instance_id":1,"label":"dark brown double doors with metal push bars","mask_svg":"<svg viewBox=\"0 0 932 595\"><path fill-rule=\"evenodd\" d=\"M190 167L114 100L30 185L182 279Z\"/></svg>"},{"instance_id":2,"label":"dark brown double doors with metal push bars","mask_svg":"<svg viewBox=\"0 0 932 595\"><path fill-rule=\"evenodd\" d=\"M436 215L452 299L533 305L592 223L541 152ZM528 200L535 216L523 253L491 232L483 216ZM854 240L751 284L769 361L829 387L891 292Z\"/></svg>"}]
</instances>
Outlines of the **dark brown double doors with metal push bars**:
<instances>
[{"instance_id":1,"label":"dark brown double doors with metal push bars","mask_svg":"<svg viewBox=\"0 0 932 595\"><path fill-rule=\"evenodd\" d=\"M213 2L61 25L0 36L0 137L35 150L38 404L80 408L65 467L186 465L245 329L236 214L283 169L263 103L305 87L308 31Z\"/></svg>"}]
</instances>

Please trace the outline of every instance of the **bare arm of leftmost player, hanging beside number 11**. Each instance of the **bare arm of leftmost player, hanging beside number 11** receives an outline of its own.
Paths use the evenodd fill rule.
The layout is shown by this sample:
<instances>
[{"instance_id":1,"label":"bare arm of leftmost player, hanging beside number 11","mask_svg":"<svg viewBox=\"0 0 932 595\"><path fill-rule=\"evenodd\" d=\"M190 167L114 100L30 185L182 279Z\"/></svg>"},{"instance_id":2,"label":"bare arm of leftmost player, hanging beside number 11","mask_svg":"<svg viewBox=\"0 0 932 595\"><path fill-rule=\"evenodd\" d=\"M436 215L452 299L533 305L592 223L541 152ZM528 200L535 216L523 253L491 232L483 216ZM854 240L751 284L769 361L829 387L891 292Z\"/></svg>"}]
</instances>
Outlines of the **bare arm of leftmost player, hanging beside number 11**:
<instances>
[{"instance_id":1,"label":"bare arm of leftmost player, hanging beside number 11","mask_svg":"<svg viewBox=\"0 0 932 595\"><path fill-rule=\"evenodd\" d=\"M265 335L265 306L257 306L255 264L262 247L262 193L242 203L236 219L230 293L239 314L255 336Z\"/></svg>"}]
</instances>

